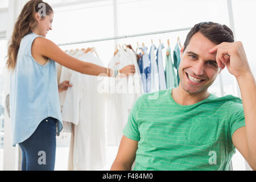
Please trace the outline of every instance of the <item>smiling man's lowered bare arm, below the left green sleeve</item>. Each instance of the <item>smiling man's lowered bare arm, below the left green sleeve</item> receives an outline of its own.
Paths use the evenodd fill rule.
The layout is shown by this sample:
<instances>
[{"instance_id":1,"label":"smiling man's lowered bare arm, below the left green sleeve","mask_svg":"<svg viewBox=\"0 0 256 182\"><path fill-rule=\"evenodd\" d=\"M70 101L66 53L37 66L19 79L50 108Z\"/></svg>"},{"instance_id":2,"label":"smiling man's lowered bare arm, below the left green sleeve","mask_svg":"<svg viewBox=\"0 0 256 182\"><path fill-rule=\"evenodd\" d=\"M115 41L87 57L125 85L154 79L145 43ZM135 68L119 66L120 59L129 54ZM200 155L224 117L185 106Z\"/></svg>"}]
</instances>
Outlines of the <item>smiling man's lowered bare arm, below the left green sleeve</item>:
<instances>
[{"instance_id":1,"label":"smiling man's lowered bare arm, below the left green sleeve","mask_svg":"<svg viewBox=\"0 0 256 182\"><path fill-rule=\"evenodd\" d=\"M111 171L130 171L135 160L138 142L123 135L117 157L115 158Z\"/></svg>"}]
</instances>

